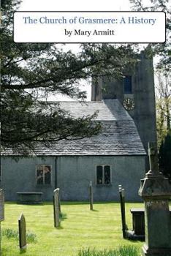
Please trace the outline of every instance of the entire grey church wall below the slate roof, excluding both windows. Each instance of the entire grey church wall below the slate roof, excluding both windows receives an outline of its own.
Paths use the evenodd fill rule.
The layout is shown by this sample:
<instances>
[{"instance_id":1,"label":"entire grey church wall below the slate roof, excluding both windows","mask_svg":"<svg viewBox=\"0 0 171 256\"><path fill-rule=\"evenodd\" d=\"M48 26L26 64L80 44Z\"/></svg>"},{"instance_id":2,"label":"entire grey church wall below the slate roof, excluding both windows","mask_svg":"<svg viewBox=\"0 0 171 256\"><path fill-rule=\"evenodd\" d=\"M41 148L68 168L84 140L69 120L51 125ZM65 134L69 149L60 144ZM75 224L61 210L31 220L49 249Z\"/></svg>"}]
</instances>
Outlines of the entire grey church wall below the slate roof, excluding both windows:
<instances>
[{"instance_id":1,"label":"entire grey church wall below the slate roof, excluding both windows","mask_svg":"<svg viewBox=\"0 0 171 256\"><path fill-rule=\"evenodd\" d=\"M51 185L36 184L37 164L52 165ZM56 187L61 200L88 200L92 181L94 201L118 200L118 184L126 189L126 200L139 201L140 178L145 175L144 156L57 157L57 165L56 157L21 158L18 162L4 157L1 165L5 200L17 200L16 192L43 192L44 200L52 200ZM96 165L111 165L111 185L96 185Z\"/></svg>"}]
</instances>

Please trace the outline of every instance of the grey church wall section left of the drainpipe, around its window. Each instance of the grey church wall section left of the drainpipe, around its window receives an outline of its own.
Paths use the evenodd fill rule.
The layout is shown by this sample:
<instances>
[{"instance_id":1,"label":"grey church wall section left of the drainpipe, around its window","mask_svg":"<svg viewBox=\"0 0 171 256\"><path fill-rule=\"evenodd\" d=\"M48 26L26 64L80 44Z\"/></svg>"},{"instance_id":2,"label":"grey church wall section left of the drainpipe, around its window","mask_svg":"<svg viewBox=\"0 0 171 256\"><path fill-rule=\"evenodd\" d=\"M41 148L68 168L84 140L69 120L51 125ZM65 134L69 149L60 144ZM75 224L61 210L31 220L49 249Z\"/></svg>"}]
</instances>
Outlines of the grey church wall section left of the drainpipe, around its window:
<instances>
[{"instance_id":1,"label":"grey church wall section left of the drainpipe, around its window","mask_svg":"<svg viewBox=\"0 0 171 256\"><path fill-rule=\"evenodd\" d=\"M52 165L51 185L36 184L36 165ZM43 200L52 200L55 189L55 157L26 157L18 161L1 158L1 187L5 200L17 200L16 192L43 192Z\"/></svg>"}]
</instances>

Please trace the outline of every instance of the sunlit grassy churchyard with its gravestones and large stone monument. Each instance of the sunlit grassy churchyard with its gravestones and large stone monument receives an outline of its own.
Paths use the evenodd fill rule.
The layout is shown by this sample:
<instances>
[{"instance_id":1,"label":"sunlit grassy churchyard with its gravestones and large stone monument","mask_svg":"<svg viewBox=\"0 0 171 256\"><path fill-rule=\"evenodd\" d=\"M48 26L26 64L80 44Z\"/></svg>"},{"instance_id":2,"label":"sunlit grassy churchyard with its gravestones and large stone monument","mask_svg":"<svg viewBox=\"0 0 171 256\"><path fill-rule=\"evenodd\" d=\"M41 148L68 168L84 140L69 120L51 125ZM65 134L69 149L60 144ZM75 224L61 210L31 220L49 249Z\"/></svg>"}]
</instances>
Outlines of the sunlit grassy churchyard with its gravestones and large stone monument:
<instances>
[{"instance_id":1,"label":"sunlit grassy churchyard with its gravestones and large stone monument","mask_svg":"<svg viewBox=\"0 0 171 256\"><path fill-rule=\"evenodd\" d=\"M1 255L170 256L171 187L159 173L156 143L148 143L148 155L150 170L139 189L144 204L125 203L121 185L120 203L94 203L90 182L89 202L61 203L59 188L53 203L43 203L42 192L20 192L4 214L1 189Z\"/></svg>"}]
</instances>

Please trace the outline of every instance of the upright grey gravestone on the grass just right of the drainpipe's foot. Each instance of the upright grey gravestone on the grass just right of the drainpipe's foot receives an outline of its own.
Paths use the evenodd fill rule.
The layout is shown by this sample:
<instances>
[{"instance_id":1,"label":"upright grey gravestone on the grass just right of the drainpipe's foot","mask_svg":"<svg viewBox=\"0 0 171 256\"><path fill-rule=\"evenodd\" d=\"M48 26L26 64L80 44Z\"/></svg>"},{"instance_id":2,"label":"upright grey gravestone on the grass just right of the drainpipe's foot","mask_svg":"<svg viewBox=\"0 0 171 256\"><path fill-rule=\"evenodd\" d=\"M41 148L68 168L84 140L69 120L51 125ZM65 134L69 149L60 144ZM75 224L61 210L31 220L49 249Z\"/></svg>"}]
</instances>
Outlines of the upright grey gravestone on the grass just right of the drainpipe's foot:
<instances>
[{"instance_id":1,"label":"upright grey gravestone on the grass just right of the drainpipe's foot","mask_svg":"<svg viewBox=\"0 0 171 256\"><path fill-rule=\"evenodd\" d=\"M53 213L54 213L54 226L55 227L59 227L59 225L60 225L60 219L59 219L59 214L60 214L59 190L60 189L55 189L53 191Z\"/></svg>"}]
</instances>

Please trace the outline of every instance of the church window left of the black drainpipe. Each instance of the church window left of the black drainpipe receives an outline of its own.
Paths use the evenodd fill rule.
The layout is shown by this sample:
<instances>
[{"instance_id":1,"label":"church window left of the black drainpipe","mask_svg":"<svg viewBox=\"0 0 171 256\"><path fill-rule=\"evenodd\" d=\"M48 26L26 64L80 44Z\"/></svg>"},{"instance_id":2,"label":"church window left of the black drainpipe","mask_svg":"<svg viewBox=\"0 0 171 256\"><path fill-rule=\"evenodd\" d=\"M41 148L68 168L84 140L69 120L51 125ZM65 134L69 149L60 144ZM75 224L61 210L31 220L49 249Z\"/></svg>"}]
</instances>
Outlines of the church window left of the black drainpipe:
<instances>
[{"instance_id":1,"label":"church window left of the black drainpipe","mask_svg":"<svg viewBox=\"0 0 171 256\"><path fill-rule=\"evenodd\" d=\"M50 185L51 165L37 165L37 185Z\"/></svg>"}]
</instances>

